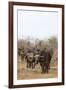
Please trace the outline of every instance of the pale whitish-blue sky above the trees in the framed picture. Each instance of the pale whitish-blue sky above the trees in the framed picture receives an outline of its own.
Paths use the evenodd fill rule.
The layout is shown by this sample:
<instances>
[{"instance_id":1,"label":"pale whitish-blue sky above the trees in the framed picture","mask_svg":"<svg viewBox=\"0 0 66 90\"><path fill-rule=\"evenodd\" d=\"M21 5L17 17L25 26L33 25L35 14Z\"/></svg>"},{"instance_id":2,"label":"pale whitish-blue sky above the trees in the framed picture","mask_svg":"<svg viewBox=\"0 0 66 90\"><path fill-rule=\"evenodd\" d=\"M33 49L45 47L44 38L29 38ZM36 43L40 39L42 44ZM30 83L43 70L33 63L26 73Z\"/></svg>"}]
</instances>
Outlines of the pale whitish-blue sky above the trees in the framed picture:
<instances>
[{"instance_id":1,"label":"pale whitish-blue sky above the trees in the framed picture","mask_svg":"<svg viewBox=\"0 0 66 90\"><path fill-rule=\"evenodd\" d=\"M18 11L18 39L58 37L58 12Z\"/></svg>"}]
</instances>

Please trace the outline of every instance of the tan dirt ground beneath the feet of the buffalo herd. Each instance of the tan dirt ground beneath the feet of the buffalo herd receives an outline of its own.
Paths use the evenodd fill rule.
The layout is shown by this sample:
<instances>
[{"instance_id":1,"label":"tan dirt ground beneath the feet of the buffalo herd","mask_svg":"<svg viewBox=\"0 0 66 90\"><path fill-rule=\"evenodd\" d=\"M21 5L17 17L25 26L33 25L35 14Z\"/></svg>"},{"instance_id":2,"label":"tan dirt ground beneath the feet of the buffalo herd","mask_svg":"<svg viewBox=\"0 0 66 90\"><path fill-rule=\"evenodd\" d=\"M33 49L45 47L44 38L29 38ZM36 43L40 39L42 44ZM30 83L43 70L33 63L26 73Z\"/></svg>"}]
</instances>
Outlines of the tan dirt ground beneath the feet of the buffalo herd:
<instances>
[{"instance_id":1,"label":"tan dirt ground beneath the feet of the buffalo herd","mask_svg":"<svg viewBox=\"0 0 66 90\"><path fill-rule=\"evenodd\" d=\"M40 64L37 64L34 69L29 69L26 67L26 62L19 61L17 63L17 79L18 80L28 80L28 79L42 79L42 78L55 78L57 77L57 67L50 67L49 73L41 73Z\"/></svg>"}]
</instances>

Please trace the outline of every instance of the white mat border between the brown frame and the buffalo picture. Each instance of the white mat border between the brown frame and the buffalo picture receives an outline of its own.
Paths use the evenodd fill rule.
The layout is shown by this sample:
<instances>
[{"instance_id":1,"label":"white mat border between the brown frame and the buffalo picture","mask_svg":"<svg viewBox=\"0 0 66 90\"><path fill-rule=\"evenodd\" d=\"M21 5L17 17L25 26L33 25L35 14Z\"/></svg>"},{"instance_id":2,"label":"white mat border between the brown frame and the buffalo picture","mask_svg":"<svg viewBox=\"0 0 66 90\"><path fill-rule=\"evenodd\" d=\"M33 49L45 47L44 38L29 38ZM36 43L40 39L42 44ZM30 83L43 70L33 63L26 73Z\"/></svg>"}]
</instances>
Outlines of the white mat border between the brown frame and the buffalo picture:
<instances>
[{"instance_id":1,"label":"white mat border between the brown frame and the buffalo picture","mask_svg":"<svg viewBox=\"0 0 66 90\"><path fill-rule=\"evenodd\" d=\"M32 79L32 80L17 80L17 9L28 9L28 10L44 10L44 11L58 11L58 78L49 78L49 79ZM22 85L22 84L39 84L39 83L56 83L62 81L62 17L61 8L48 8L48 7L32 7L32 6L13 6L13 84Z\"/></svg>"}]
</instances>

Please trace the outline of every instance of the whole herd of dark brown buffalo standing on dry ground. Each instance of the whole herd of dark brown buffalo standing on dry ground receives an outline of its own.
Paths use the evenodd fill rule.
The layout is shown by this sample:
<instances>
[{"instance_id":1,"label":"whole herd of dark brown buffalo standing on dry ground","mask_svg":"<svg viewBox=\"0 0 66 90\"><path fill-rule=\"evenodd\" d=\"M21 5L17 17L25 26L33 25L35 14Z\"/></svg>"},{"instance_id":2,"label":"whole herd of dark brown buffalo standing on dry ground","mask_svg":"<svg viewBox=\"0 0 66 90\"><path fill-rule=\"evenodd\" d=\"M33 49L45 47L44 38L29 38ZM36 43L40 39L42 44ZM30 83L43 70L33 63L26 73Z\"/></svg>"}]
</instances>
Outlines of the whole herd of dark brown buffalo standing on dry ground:
<instances>
[{"instance_id":1,"label":"whole herd of dark brown buffalo standing on dry ground","mask_svg":"<svg viewBox=\"0 0 66 90\"><path fill-rule=\"evenodd\" d=\"M48 73L50 70L51 51L44 48L43 50L25 50L18 49L18 55L21 60L26 61L26 67L34 69L39 63L41 66L41 73Z\"/></svg>"}]
</instances>

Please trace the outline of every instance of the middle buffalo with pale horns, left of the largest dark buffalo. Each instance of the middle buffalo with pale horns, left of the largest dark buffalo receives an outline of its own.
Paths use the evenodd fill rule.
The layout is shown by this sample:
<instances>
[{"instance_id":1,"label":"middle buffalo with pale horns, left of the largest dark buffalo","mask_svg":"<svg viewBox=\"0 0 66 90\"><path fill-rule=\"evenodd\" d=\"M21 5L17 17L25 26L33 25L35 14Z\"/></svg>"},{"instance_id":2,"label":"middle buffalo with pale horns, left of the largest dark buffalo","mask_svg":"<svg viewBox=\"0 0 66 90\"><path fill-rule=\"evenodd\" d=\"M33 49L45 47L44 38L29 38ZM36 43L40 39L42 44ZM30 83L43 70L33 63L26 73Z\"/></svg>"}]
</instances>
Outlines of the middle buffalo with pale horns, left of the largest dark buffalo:
<instances>
[{"instance_id":1,"label":"middle buffalo with pale horns, left of the largest dark buffalo","mask_svg":"<svg viewBox=\"0 0 66 90\"><path fill-rule=\"evenodd\" d=\"M37 50L29 51L26 54L27 68L35 68L39 62L39 52Z\"/></svg>"}]
</instances>

